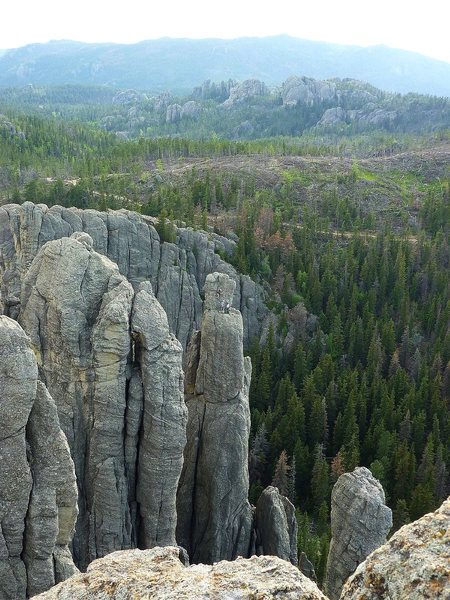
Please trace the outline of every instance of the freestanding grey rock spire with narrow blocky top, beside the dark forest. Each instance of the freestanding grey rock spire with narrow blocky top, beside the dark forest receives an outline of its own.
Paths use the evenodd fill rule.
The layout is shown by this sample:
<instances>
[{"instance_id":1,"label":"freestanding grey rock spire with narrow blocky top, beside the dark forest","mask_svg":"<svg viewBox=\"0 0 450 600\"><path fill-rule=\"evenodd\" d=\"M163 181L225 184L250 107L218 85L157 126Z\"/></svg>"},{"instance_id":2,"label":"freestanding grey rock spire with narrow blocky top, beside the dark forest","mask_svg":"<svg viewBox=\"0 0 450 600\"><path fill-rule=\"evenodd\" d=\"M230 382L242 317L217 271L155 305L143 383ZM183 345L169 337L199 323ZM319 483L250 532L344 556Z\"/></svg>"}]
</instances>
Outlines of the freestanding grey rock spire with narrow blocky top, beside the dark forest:
<instances>
[{"instance_id":1,"label":"freestanding grey rock spire with narrow blocky top, beside the dark forest","mask_svg":"<svg viewBox=\"0 0 450 600\"><path fill-rule=\"evenodd\" d=\"M189 418L177 496L177 541L192 562L248 556L252 510L248 495L248 389L242 317L229 308L234 281L208 275L201 333L187 355Z\"/></svg>"}]
</instances>

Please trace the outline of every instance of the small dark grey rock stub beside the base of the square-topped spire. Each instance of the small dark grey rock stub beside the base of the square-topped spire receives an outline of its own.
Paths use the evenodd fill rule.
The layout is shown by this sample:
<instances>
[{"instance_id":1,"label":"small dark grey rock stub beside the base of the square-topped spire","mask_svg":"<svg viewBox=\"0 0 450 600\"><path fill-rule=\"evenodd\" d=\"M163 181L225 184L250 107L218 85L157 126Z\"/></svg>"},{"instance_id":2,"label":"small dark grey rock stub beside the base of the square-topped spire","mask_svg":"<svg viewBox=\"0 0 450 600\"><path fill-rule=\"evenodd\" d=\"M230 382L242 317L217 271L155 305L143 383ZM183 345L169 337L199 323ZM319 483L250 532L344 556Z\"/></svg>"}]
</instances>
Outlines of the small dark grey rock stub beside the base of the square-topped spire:
<instances>
[{"instance_id":1,"label":"small dark grey rock stub beside the base of the square-topped spire","mask_svg":"<svg viewBox=\"0 0 450 600\"><path fill-rule=\"evenodd\" d=\"M279 556L298 564L295 507L278 491L267 487L258 499L255 512L256 553Z\"/></svg>"}]
</instances>

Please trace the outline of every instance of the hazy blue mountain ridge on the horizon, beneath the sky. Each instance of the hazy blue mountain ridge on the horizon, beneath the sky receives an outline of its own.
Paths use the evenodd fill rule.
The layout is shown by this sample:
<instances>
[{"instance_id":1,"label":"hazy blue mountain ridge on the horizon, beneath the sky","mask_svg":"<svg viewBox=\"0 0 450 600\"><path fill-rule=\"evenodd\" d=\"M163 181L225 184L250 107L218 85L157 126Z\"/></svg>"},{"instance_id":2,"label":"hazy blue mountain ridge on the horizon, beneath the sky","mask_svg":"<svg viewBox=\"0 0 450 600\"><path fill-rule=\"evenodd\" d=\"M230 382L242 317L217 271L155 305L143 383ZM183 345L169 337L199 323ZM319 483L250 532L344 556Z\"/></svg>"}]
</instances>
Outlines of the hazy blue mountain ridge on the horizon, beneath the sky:
<instances>
[{"instance_id":1,"label":"hazy blue mountain ridge on the horizon, beneath the sky","mask_svg":"<svg viewBox=\"0 0 450 600\"><path fill-rule=\"evenodd\" d=\"M450 63L386 46L344 46L286 35L88 44L71 40L0 51L0 86L95 84L186 92L199 81L295 73L362 79L394 92L450 96Z\"/></svg>"}]
</instances>

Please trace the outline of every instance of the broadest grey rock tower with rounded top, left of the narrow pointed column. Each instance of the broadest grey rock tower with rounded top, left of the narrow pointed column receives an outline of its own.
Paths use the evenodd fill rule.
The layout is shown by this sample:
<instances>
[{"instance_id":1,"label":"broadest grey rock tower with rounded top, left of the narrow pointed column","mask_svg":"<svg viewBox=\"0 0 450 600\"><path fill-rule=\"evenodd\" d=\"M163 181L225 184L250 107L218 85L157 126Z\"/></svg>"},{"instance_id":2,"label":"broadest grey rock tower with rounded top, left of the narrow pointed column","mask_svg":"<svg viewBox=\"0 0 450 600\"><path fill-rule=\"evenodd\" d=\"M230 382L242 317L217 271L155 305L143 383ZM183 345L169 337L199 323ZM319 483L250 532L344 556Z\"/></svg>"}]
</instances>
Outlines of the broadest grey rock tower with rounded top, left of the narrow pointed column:
<instances>
[{"instance_id":1,"label":"broadest grey rock tower with rounded top, left of the narrow pointed column","mask_svg":"<svg viewBox=\"0 0 450 600\"><path fill-rule=\"evenodd\" d=\"M20 323L75 463L74 557L82 568L131 547L123 430L133 295L117 266L94 252L83 233L45 244L22 288Z\"/></svg>"}]
</instances>

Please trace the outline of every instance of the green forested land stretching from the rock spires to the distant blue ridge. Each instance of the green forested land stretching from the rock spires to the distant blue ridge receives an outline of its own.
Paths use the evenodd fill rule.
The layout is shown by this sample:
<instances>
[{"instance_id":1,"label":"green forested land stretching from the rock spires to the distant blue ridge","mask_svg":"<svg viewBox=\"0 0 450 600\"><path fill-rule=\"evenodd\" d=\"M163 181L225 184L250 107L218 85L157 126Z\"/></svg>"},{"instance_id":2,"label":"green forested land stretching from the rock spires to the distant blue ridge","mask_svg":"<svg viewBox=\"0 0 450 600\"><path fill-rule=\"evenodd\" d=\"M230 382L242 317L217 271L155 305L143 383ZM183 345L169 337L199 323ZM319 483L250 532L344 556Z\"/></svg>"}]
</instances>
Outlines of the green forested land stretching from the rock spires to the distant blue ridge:
<instances>
[{"instance_id":1,"label":"green forested land stretching from the rock spires to the distant blue ridge","mask_svg":"<svg viewBox=\"0 0 450 600\"><path fill-rule=\"evenodd\" d=\"M197 90L186 102L204 116L174 123L172 100L157 113L154 99L121 103L116 90L3 90L0 203L124 207L158 217L163 241L180 221L236 241L228 260L265 287L273 313L247 349L250 499L272 481L291 498L321 579L341 473L372 470L396 529L449 493L449 106L380 93L380 110L397 111L389 127L319 132L328 101L277 108L264 93L224 109L225 88ZM124 127L137 139L122 139L132 110ZM243 119L255 139L225 139Z\"/></svg>"}]
</instances>

